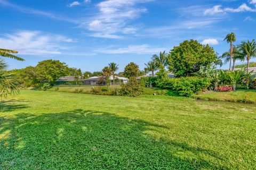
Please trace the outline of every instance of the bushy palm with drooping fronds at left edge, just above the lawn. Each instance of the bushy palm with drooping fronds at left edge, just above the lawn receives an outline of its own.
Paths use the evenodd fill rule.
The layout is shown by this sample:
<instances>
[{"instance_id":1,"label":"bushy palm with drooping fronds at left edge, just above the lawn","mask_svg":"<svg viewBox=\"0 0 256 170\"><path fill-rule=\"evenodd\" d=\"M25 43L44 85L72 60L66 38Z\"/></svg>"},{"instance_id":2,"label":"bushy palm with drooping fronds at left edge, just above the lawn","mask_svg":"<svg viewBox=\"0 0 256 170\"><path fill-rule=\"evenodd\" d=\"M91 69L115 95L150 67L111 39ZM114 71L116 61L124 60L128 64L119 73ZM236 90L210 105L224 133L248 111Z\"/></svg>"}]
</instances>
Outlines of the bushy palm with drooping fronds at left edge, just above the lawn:
<instances>
[{"instance_id":1,"label":"bushy palm with drooping fronds at left edge, just above the lawn","mask_svg":"<svg viewBox=\"0 0 256 170\"><path fill-rule=\"evenodd\" d=\"M6 71L7 64L0 59L0 96L6 98L8 94L19 93L19 83L11 72Z\"/></svg>"}]
</instances>

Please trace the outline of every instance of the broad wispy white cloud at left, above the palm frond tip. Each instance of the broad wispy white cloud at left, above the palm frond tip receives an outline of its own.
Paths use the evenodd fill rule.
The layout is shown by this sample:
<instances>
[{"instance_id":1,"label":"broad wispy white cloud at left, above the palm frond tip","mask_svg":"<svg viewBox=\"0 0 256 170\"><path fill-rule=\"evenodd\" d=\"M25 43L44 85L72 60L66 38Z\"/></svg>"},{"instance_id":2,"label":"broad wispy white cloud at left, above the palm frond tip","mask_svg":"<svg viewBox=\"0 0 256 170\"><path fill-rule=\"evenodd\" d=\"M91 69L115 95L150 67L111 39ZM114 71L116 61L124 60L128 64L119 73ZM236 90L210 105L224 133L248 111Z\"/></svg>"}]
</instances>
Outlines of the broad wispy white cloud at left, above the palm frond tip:
<instances>
[{"instance_id":1,"label":"broad wispy white cloud at left, above the palm frond tip","mask_svg":"<svg viewBox=\"0 0 256 170\"><path fill-rule=\"evenodd\" d=\"M21 30L0 36L2 48L17 50L22 55L93 55L92 53L70 54L68 52L70 47L63 44L73 42L77 42L77 40L62 35L45 34L40 31Z\"/></svg>"}]
</instances>

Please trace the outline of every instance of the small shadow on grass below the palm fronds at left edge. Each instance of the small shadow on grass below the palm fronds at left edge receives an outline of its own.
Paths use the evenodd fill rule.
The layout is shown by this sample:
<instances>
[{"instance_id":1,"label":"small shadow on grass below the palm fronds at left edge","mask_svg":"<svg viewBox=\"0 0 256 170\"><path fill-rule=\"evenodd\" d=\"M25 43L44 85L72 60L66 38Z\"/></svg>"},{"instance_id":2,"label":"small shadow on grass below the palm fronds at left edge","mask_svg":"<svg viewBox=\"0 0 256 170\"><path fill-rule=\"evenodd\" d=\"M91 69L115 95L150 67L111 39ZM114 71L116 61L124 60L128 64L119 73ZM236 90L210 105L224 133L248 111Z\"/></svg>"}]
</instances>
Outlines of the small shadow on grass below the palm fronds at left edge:
<instances>
[{"instance_id":1,"label":"small shadow on grass below the palm fronds at left edge","mask_svg":"<svg viewBox=\"0 0 256 170\"><path fill-rule=\"evenodd\" d=\"M7 100L7 101L0 101L0 112L6 111L14 111L17 109L28 108L27 104L23 104L23 102L27 102L24 100Z\"/></svg>"}]
</instances>

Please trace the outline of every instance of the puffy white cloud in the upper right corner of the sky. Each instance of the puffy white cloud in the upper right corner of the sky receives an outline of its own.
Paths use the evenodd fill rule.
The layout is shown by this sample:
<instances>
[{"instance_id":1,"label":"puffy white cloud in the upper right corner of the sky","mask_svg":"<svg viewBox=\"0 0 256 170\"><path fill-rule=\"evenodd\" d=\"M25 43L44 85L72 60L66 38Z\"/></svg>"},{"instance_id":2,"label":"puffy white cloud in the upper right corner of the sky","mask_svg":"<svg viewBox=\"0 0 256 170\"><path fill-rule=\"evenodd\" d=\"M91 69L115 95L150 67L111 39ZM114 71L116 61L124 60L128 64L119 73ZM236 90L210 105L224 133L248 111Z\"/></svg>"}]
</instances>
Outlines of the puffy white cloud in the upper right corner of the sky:
<instances>
[{"instance_id":1,"label":"puffy white cloud in the upper right corner of the sky","mask_svg":"<svg viewBox=\"0 0 256 170\"><path fill-rule=\"evenodd\" d=\"M245 3L240 5L237 9L226 7L221 8L221 5L215 5L211 9L206 9L204 11L204 15L214 15L219 13L226 13L226 12L256 12L256 9L252 9L251 7L247 6Z\"/></svg>"}]
</instances>

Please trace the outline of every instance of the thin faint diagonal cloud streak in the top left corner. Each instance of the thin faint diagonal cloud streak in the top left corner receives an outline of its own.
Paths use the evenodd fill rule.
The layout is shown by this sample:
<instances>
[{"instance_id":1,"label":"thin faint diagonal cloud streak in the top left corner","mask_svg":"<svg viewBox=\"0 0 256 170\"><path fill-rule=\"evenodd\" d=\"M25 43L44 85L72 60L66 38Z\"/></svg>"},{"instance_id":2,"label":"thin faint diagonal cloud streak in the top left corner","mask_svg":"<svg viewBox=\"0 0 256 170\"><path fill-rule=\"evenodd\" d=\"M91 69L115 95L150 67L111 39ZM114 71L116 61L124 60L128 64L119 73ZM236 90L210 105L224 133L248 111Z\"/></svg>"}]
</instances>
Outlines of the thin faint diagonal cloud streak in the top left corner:
<instances>
[{"instance_id":1,"label":"thin faint diagonal cloud streak in the top left corner","mask_svg":"<svg viewBox=\"0 0 256 170\"><path fill-rule=\"evenodd\" d=\"M70 18L67 18L67 17L63 17L61 15L57 15L57 14L54 14L54 13L51 13L51 12L45 12L45 11L41 11L41 10L36 10L36 9L28 8L28 7L19 6L19 5L16 5L16 4L12 4L12 3L10 3L6 0L0 0L0 4L2 4L4 6L11 7L12 9L18 10L22 13L42 15L44 17L52 18L52 19L55 19L55 20L78 23L78 21L75 20L75 19L70 19Z\"/></svg>"}]
</instances>

